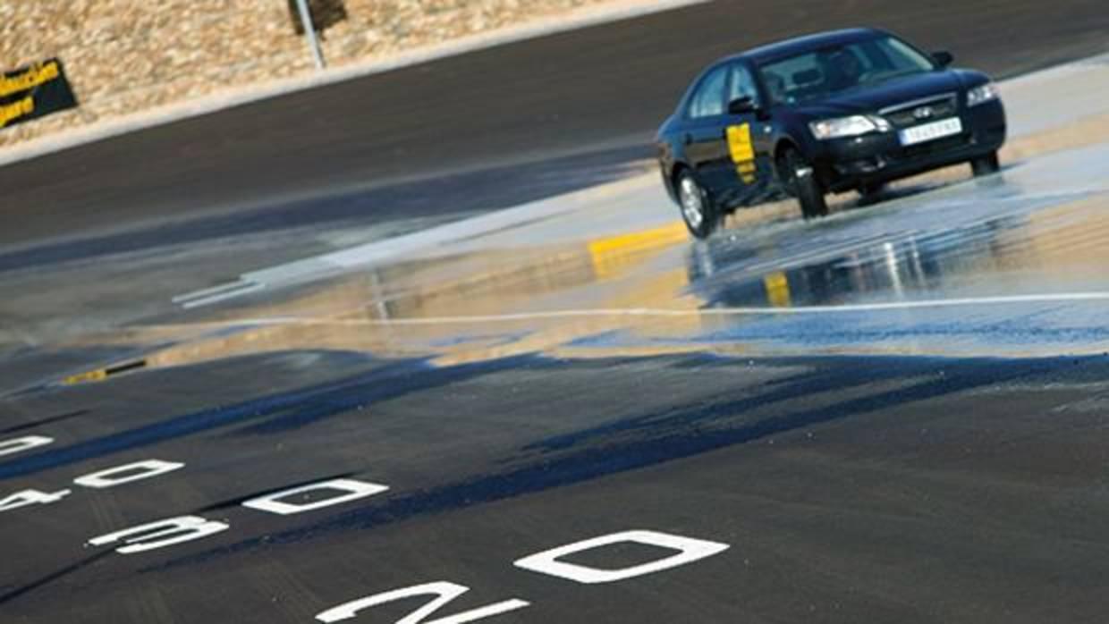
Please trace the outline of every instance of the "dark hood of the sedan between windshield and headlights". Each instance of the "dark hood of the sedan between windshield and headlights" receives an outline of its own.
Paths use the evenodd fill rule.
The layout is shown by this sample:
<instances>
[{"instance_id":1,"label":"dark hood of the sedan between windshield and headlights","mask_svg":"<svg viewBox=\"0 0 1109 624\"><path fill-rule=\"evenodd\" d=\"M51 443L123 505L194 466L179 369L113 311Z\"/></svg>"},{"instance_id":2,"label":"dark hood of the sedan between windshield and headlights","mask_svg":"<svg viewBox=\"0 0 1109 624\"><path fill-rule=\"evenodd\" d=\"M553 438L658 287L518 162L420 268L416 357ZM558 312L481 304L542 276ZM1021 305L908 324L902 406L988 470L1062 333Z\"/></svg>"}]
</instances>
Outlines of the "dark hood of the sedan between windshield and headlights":
<instances>
[{"instance_id":1,"label":"dark hood of the sedan between windshield and headlights","mask_svg":"<svg viewBox=\"0 0 1109 624\"><path fill-rule=\"evenodd\" d=\"M909 75L867 89L807 102L796 106L796 112L812 117L873 113L903 102L962 91L966 88L967 78L958 71Z\"/></svg>"}]
</instances>

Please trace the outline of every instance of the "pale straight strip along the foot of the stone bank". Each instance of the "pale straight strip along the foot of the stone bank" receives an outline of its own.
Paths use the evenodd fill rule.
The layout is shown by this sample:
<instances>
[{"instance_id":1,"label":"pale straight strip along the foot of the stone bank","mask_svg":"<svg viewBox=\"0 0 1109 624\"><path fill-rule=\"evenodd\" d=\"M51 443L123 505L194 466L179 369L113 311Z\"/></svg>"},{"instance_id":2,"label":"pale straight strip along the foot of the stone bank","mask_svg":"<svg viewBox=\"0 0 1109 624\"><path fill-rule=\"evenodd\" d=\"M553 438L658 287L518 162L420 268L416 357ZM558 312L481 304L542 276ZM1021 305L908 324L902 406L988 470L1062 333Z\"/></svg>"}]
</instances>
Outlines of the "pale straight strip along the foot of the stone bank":
<instances>
[{"instance_id":1,"label":"pale straight strip along the foot of the stone bank","mask_svg":"<svg viewBox=\"0 0 1109 624\"><path fill-rule=\"evenodd\" d=\"M149 111L110 119L92 125L63 131L61 134L49 134L10 147L0 149L0 166L43 156L53 152L69 150L88 143L111 139L165 125L176 121L197 117L222 110L279 98L291 93L307 91L317 86L326 86L368 75L385 73L420 63L427 63L469 52L477 52L498 45L517 43L529 39L538 39L560 32L579 30L604 23L629 20L653 13L661 13L694 4L703 4L709 0L659 0L631 7L599 7L582 11L577 17L550 18L530 25L509 27L491 33L464 37L461 39L430 45L409 52L404 52L386 60L369 60L354 62L311 74L288 79L274 80L242 89L212 93L195 100L175 102Z\"/></svg>"}]
</instances>

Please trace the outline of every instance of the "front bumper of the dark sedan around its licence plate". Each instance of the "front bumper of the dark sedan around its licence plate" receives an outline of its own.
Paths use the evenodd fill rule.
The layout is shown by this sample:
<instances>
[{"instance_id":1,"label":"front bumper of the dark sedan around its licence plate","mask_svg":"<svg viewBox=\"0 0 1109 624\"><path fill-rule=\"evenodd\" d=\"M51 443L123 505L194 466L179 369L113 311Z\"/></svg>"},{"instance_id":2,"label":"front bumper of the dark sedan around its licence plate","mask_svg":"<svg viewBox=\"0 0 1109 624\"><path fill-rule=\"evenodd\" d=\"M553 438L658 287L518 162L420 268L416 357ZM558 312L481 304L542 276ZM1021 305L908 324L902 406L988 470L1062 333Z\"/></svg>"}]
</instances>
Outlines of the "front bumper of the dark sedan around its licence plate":
<instances>
[{"instance_id":1,"label":"front bumper of the dark sedan around its licence plate","mask_svg":"<svg viewBox=\"0 0 1109 624\"><path fill-rule=\"evenodd\" d=\"M903 146L897 132L823 142L814 158L824 187L833 193L889 182L997 151L1006 137L1005 106L995 100L962 109L963 132Z\"/></svg>"}]
</instances>

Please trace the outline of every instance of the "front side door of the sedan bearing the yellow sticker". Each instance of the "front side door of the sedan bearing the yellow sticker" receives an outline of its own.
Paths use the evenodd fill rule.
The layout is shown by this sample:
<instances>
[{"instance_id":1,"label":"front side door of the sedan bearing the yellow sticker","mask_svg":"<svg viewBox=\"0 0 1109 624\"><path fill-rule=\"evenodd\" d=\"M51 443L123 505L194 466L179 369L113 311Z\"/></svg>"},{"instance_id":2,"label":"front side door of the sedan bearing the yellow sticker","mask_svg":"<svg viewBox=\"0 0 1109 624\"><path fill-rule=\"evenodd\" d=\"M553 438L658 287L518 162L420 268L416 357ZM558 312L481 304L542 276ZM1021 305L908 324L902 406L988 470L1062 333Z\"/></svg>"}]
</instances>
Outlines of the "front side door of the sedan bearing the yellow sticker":
<instances>
[{"instance_id":1,"label":"front side door of the sedan bearing the yellow sticker","mask_svg":"<svg viewBox=\"0 0 1109 624\"><path fill-rule=\"evenodd\" d=\"M732 102L744 99L751 103L746 112L730 112ZM754 74L743 62L729 65L728 102L724 132L734 181L734 192L729 200L739 204L756 203L766 195L774 176L773 126Z\"/></svg>"}]
</instances>

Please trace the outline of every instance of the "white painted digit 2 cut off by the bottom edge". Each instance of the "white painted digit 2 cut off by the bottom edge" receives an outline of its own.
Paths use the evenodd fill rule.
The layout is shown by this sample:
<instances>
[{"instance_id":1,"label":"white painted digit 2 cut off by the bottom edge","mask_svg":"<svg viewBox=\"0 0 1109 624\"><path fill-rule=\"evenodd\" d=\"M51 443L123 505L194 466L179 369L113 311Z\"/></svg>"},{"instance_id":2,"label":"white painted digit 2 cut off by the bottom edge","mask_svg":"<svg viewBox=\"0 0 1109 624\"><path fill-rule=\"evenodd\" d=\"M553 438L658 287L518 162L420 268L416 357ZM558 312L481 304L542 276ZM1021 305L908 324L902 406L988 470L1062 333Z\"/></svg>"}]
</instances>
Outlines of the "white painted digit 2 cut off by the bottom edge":
<instances>
[{"instance_id":1,"label":"white painted digit 2 cut off by the bottom edge","mask_svg":"<svg viewBox=\"0 0 1109 624\"><path fill-rule=\"evenodd\" d=\"M321 622L340 622L343 620L350 620L358 614L359 611L369 608L372 606L377 606L379 604L385 604L387 602L409 599L414 596L437 596L431 602L425 604L417 611L414 611L406 615L403 620L397 620L396 624L462 624L464 622L474 622L475 620L484 620L486 617L492 617L494 615L500 615L501 613L508 613L509 611L516 611L518 608L523 608L530 603L527 601L512 599L503 602L498 602L497 604L490 604L488 606L482 606L478 608L472 608L465 613L459 613L457 615L450 615L448 617L439 617L438 620L424 618L431 615L436 611L439 611L447 605L450 601L457 599L458 596L465 594L469 591L469 587L464 585L458 585L456 583L448 583L446 581L439 581L436 583L425 583L423 585L414 585L411 587L405 587L403 590L394 590L391 592L385 592L381 594L374 594L364 599L358 599L356 601L348 602L346 604L340 604L334 608L328 608L327 611L321 613L316 616L316 620Z\"/></svg>"}]
</instances>

